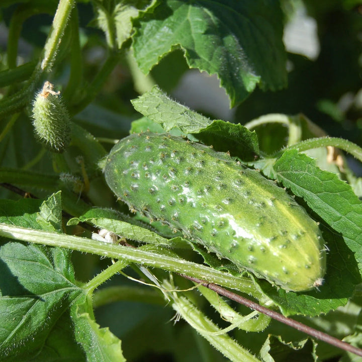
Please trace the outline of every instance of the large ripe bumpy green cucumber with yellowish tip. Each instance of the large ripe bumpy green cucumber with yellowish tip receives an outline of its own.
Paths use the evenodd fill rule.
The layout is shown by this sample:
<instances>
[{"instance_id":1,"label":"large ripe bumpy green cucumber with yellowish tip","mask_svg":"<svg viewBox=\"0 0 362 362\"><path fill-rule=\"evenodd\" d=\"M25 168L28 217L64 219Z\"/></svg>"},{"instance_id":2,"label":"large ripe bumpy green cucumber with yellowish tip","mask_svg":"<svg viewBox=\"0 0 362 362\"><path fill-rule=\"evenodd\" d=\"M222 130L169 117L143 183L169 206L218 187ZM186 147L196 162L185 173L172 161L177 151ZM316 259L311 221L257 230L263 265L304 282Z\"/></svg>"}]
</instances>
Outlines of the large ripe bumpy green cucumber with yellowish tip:
<instances>
[{"instance_id":1,"label":"large ripe bumpy green cucumber with yellowish tip","mask_svg":"<svg viewBox=\"0 0 362 362\"><path fill-rule=\"evenodd\" d=\"M111 150L112 191L131 210L285 290L320 286L326 255L318 225L274 182L225 153L164 134L133 134Z\"/></svg>"}]
</instances>

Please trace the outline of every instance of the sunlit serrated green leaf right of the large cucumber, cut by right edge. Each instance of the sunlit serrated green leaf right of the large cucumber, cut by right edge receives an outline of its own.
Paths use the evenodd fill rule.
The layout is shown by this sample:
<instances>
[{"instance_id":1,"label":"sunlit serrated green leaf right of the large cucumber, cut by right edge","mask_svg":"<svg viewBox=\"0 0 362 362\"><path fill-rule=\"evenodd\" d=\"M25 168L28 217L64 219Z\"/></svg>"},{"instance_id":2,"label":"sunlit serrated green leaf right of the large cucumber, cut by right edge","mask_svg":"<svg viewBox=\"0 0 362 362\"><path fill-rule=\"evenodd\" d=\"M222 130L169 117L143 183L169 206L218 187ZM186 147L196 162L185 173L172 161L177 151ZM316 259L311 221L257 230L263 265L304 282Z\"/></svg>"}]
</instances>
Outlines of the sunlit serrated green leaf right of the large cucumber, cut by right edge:
<instances>
[{"instance_id":1,"label":"sunlit serrated green leaf right of the large cucumber, cut by right edge","mask_svg":"<svg viewBox=\"0 0 362 362\"><path fill-rule=\"evenodd\" d=\"M297 150L284 152L274 170L279 182L303 197L314 212L343 236L362 273L362 202L351 187Z\"/></svg>"}]
</instances>

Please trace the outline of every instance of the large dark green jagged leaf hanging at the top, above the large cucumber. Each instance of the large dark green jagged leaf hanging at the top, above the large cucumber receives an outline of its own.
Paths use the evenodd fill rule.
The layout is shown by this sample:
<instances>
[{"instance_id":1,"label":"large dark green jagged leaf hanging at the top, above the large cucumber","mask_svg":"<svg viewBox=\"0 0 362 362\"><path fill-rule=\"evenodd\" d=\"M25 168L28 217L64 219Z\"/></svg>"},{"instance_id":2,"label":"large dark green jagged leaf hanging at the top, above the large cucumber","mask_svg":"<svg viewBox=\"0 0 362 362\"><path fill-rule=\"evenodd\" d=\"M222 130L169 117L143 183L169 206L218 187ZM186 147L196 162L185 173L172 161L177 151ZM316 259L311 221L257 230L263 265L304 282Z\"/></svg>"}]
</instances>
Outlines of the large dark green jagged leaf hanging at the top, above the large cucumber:
<instances>
[{"instance_id":1,"label":"large dark green jagged leaf hanging at the top, above the large cucumber","mask_svg":"<svg viewBox=\"0 0 362 362\"><path fill-rule=\"evenodd\" d=\"M139 21L133 49L144 73L180 48L190 68L218 75L232 107L256 84L272 90L286 86L279 2L167 0Z\"/></svg>"}]
</instances>

